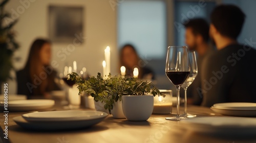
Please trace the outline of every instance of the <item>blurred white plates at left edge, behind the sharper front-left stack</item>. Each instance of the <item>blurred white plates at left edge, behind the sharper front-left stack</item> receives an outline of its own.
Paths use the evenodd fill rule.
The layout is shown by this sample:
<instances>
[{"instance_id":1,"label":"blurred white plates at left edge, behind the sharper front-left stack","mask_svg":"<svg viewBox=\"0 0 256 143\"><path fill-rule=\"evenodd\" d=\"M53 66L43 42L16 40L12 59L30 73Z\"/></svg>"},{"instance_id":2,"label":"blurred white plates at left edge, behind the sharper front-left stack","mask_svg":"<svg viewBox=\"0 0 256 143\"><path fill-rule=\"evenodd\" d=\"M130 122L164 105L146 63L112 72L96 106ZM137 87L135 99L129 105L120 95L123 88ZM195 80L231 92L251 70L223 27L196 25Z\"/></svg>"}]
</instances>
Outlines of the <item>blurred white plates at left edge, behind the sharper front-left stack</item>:
<instances>
[{"instance_id":1,"label":"blurred white plates at left edge, behind the sharper front-left stack","mask_svg":"<svg viewBox=\"0 0 256 143\"><path fill-rule=\"evenodd\" d=\"M0 102L3 108L4 102ZM43 110L54 106L54 100L16 100L8 101L8 111Z\"/></svg>"}]
</instances>

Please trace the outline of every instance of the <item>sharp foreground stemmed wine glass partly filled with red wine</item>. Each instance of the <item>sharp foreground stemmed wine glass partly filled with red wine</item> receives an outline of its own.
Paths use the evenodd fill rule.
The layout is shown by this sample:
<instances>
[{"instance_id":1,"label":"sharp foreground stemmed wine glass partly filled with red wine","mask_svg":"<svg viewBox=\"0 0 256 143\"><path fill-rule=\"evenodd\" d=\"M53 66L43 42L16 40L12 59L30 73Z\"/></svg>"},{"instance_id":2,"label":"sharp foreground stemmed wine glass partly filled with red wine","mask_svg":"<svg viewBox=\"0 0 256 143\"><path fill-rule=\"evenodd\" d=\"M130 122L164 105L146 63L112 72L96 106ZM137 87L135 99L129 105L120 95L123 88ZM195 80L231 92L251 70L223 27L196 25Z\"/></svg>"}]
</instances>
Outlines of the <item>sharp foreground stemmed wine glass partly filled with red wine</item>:
<instances>
[{"instance_id":1,"label":"sharp foreground stemmed wine glass partly filled with red wine","mask_svg":"<svg viewBox=\"0 0 256 143\"><path fill-rule=\"evenodd\" d=\"M187 46L169 46L166 57L165 73L177 89L177 115L166 120L180 121L180 86L190 74Z\"/></svg>"}]
</instances>

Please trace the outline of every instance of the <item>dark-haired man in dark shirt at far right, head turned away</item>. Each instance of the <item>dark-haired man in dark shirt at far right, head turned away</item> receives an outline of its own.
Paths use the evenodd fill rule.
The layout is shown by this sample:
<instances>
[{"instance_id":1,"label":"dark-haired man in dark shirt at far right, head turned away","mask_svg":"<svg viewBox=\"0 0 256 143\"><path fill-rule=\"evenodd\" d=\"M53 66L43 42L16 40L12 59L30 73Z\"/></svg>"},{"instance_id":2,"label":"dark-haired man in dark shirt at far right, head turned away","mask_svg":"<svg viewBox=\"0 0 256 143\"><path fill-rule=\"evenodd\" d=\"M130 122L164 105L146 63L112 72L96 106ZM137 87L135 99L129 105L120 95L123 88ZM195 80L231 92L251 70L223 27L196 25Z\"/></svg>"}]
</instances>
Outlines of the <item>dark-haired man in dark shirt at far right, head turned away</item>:
<instances>
[{"instance_id":1,"label":"dark-haired man in dark shirt at far right, head turned away","mask_svg":"<svg viewBox=\"0 0 256 143\"><path fill-rule=\"evenodd\" d=\"M218 51L205 57L202 64L202 88L198 88L203 93L202 105L256 102L256 51L249 43L237 42L245 14L237 6L220 5L210 19L209 34ZM251 41L248 39L245 41Z\"/></svg>"}]
</instances>

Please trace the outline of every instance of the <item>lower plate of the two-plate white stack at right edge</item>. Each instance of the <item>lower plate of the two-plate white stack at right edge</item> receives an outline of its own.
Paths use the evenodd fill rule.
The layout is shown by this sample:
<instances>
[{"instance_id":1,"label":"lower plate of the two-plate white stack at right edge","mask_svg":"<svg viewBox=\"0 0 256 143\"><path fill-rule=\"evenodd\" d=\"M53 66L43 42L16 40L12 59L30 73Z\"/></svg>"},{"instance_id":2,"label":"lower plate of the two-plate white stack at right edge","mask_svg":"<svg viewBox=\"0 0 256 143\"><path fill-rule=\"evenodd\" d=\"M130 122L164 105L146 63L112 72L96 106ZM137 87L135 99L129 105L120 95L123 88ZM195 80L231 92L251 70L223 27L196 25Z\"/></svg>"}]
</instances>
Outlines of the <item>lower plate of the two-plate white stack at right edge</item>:
<instances>
[{"instance_id":1,"label":"lower plate of the two-plate white stack at right edge","mask_svg":"<svg viewBox=\"0 0 256 143\"><path fill-rule=\"evenodd\" d=\"M216 113L228 116L256 116L256 110L230 110L218 109L215 107L211 107L210 109Z\"/></svg>"}]
</instances>

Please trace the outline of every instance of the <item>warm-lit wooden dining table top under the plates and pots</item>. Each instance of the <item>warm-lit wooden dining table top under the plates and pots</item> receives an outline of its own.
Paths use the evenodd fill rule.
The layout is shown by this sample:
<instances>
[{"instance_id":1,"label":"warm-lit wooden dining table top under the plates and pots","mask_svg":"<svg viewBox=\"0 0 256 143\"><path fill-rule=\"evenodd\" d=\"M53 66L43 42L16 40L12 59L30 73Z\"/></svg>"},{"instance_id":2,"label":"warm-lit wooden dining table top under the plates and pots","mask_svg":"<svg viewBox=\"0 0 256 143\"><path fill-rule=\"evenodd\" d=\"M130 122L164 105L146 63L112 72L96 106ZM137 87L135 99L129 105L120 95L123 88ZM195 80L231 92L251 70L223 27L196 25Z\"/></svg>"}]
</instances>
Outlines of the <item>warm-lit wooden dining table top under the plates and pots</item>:
<instances>
[{"instance_id":1,"label":"warm-lit wooden dining table top under the plates and pots","mask_svg":"<svg viewBox=\"0 0 256 143\"><path fill-rule=\"evenodd\" d=\"M68 110L61 106L53 107L55 110ZM76 110L92 110L80 108ZM183 108L181 107L181 111ZM197 114L197 117L222 116L214 113L210 108L188 106L188 112ZM79 143L79 142L256 142L256 136L216 135L194 132L184 128L182 122L167 121L165 117L176 114L152 114L147 121L127 121L125 118L113 118L108 115L102 122L89 128L63 131L32 131L18 126L13 117L28 112L9 112L8 139L4 138L5 125L1 113L1 139L3 142L26 143ZM0 140L1 141L1 140Z\"/></svg>"}]
</instances>

